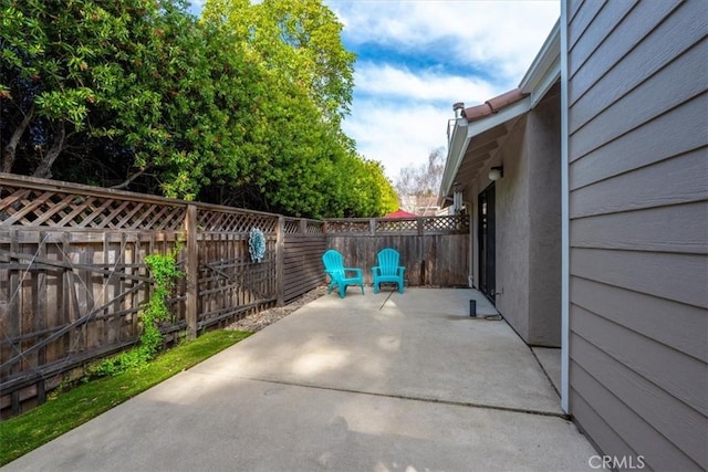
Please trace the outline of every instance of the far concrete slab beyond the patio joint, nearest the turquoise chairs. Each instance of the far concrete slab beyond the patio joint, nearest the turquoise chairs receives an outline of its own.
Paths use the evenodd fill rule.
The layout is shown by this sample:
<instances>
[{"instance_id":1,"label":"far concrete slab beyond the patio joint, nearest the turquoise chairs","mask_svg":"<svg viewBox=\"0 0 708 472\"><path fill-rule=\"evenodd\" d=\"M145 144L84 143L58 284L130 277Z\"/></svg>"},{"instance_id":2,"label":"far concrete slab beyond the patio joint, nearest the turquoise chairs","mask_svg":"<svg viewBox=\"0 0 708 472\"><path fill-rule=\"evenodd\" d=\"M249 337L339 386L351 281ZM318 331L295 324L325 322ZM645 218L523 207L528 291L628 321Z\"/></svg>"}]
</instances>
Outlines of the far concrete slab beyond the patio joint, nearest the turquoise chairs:
<instances>
[{"instance_id":1,"label":"far concrete slab beyond the patio joint, nearest the turquoise chairs","mask_svg":"<svg viewBox=\"0 0 708 472\"><path fill-rule=\"evenodd\" d=\"M469 290L332 294L194 368L238 378L561 415L529 347ZM491 305L490 305L491 306ZM497 313L493 307L490 313Z\"/></svg>"}]
</instances>

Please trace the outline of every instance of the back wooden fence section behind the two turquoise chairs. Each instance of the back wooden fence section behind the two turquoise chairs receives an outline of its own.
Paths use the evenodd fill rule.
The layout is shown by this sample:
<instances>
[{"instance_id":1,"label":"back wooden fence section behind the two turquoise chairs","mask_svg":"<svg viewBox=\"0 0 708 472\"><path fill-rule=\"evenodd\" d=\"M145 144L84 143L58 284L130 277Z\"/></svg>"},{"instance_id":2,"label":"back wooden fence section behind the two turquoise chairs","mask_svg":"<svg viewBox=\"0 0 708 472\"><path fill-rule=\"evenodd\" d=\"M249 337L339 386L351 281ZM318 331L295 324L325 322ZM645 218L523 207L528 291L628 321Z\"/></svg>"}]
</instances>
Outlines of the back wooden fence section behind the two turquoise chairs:
<instances>
[{"instance_id":1,"label":"back wooden fence section behind the two turquoise chairs","mask_svg":"<svg viewBox=\"0 0 708 472\"><path fill-rule=\"evenodd\" d=\"M469 217L326 220L325 231L327 247L347 266L362 268L365 283L372 283L378 251L393 248L406 268L406 285L468 285Z\"/></svg>"}]
</instances>

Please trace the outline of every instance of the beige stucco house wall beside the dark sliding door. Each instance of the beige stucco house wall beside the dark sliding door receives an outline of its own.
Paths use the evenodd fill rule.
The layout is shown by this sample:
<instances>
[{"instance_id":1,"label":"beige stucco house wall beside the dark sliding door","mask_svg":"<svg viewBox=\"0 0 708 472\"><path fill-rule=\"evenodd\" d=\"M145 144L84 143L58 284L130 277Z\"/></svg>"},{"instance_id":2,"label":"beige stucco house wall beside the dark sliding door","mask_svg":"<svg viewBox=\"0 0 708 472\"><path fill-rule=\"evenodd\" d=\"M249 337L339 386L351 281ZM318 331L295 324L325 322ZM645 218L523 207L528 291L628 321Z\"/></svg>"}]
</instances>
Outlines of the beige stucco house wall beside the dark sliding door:
<instances>
[{"instance_id":1,"label":"beige stucco house wall beside the dark sliding door","mask_svg":"<svg viewBox=\"0 0 708 472\"><path fill-rule=\"evenodd\" d=\"M559 347L561 175L555 91L510 130L482 169L478 193L490 183L489 169L502 164L503 178L494 183L497 308L528 344ZM478 258L477 244L473 248Z\"/></svg>"}]
</instances>

